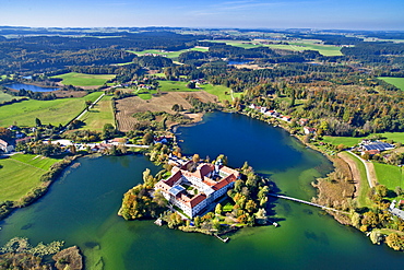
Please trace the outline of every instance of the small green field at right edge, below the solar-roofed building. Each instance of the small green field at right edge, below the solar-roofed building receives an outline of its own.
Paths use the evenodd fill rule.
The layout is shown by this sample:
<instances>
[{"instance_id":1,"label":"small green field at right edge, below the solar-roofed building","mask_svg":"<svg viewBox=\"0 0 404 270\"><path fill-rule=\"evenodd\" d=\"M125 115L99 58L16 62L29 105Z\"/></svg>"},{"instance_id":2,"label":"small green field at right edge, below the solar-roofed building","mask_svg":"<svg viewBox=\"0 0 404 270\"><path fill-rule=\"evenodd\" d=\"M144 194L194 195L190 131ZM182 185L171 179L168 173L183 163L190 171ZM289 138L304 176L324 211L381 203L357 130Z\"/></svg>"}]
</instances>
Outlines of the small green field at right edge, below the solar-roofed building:
<instances>
[{"instance_id":1,"label":"small green field at right edge, below the solar-roofed building","mask_svg":"<svg viewBox=\"0 0 404 270\"><path fill-rule=\"evenodd\" d=\"M376 176L378 177L378 181L381 185L384 185L387 188L394 190L395 187L402 187L402 168L388 165L388 164L380 164L373 163Z\"/></svg>"}]
</instances>

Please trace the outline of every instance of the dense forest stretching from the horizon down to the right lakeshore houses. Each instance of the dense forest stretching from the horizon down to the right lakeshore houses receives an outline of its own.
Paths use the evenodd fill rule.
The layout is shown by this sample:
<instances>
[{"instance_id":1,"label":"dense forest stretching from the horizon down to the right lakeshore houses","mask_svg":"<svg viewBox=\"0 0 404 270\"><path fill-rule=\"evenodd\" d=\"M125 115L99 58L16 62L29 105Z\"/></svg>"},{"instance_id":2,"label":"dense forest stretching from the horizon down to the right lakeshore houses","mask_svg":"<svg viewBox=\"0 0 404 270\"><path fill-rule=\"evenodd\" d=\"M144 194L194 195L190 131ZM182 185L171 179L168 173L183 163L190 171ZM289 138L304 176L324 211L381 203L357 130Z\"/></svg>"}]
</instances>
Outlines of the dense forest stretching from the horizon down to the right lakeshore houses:
<instances>
[{"instance_id":1,"label":"dense forest stretching from the horizon down to the right lakeshore houses","mask_svg":"<svg viewBox=\"0 0 404 270\"><path fill-rule=\"evenodd\" d=\"M44 36L29 36L33 32ZM136 31L138 33L131 33ZM110 83L142 80L150 70L157 70L167 80L204 79L242 93L224 105L241 110L251 103L283 111L295 118L311 119L324 134L364 136L371 132L404 131L404 95L378 77L404 77L404 44L365 42L371 38L400 38L402 33L281 31L284 44L298 38L321 40L341 47L342 56L323 56L317 50L285 50L256 46L243 48L210 39L253 40L269 31L209 30L212 35L178 34L181 28L116 28L107 32L83 30L33 30L0 27L0 34L20 33L19 38L0 38L0 74L29 74L35 81L55 81L51 75L70 71L88 74L116 74ZM45 33L47 32L47 33ZM22 33L25 33L22 34ZM73 35L80 37L55 36ZM205 32L206 33L206 32ZM28 35L28 36L26 36ZM114 36L114 37L112 37ZM99 38L103 37L103 38ZM188 50L177 58L136 56L128 50L158 49L178 51L202 46L205 50ZM175 60L175 61L174 61ZM180 64L178 64L178 61ZM228 61L242 61L258 68L236 68ZM116 63L130 63L116 66ZM39 72L45 72L38 75ZM11 77L10 77L11 78ZM3 79L3 82L15 79ZM14 93L36 99L35 93Z\"/></svg>"}]
</instances>

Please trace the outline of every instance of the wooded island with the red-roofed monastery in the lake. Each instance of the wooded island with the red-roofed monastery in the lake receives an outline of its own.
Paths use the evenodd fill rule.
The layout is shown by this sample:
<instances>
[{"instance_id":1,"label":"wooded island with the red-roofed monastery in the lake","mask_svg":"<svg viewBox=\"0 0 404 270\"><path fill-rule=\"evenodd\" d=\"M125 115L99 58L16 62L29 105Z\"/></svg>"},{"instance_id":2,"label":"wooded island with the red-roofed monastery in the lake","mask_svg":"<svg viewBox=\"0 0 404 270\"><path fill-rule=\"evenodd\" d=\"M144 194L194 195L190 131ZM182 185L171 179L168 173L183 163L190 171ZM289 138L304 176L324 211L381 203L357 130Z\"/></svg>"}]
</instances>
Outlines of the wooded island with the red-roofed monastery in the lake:
<instances>
[{"instance_id":1,"label":"wooded island with the red-roofed monastery in the lake","mask_svg":"<svg viewBox=\"0 0 404 270\"><path fill-rule=\"evenodd\" d=\"M157 218L156 224L210 235L242 226L268 224L268 179L254 174L246 162L239 169L224 164L170 154L169 171L154 178L144 173L144 184L124 193L119 215L126 220ZM162 178L158 180L158 178Z\"/></svg>"}]
</instances>

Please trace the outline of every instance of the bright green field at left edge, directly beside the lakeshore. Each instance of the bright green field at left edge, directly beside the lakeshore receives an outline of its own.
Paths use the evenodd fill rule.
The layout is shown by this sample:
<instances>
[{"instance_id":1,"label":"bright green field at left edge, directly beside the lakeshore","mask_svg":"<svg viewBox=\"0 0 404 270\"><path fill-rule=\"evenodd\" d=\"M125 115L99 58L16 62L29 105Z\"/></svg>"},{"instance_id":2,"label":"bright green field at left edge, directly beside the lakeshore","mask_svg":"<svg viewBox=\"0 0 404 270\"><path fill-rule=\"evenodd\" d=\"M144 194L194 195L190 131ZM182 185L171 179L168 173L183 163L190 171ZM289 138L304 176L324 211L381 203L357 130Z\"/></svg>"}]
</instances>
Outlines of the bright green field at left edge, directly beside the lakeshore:
<instances>
[{"instance_id":1,"label":"bright green field at left edge, directly beside the lakeshore","mask_svg":"<svg viewBox=\"0 0 404 270\"><path fill-rule=\"evenodd\" d=\"M39 177L56 162L56 159L31 154L0 160L0 201L22 198L40 184Z\"/></svg>"}]
</instances>

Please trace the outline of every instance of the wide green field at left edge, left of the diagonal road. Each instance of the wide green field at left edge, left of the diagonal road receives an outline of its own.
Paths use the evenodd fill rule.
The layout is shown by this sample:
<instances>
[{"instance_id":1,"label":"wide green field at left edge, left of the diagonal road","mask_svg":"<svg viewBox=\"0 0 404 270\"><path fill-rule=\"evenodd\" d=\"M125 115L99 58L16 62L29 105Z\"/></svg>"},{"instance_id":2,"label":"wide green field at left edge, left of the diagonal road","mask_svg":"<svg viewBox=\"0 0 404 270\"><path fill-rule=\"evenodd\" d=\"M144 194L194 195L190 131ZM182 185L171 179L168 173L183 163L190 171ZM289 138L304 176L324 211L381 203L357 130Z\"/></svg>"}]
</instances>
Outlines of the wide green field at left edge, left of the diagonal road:
<instances>
[{"instance_id":1,"label":"wide green field at left edge, left of the diagonal road","mask_svg":"<svg viewBox=\"0 0 404 270\"><path fill-rule=\"evenodd\" d=\"M84 109L85 101L95 101L102 92L80 98L59 98L54 101L24 101L0 107L0 127L14 125L33 127L35 118L44 125L66 125Z\"/></svg>"}]
</instances>

